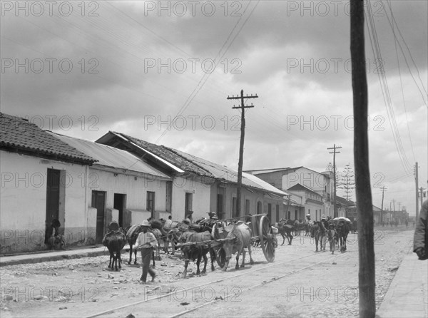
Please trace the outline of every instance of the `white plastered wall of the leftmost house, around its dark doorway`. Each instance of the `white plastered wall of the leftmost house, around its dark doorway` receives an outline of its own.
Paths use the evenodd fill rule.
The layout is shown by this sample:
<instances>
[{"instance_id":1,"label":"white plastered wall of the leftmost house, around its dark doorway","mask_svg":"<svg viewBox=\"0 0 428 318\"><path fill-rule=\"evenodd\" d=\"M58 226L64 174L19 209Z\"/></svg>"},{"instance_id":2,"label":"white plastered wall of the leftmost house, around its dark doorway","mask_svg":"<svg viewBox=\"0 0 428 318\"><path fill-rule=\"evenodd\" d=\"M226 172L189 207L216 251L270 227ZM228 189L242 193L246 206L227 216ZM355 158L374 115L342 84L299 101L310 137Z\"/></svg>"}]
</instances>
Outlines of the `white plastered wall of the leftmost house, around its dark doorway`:
<instances>
[{"instance_id":1,"label":"white plastered wall of the leftmost house, around its dark doorway","mask_svg":"<svg viewBox=\"0 0 428 318\"><path fill-rule=\"evenodd\" d=\"M48 168L63 170L65 207L60 210L65 211L61 227L66 238L69 242L82 239L76 233L86 230L85 166L0 150L1 253L45 248Z\"/></svg>"}]
</instances>

